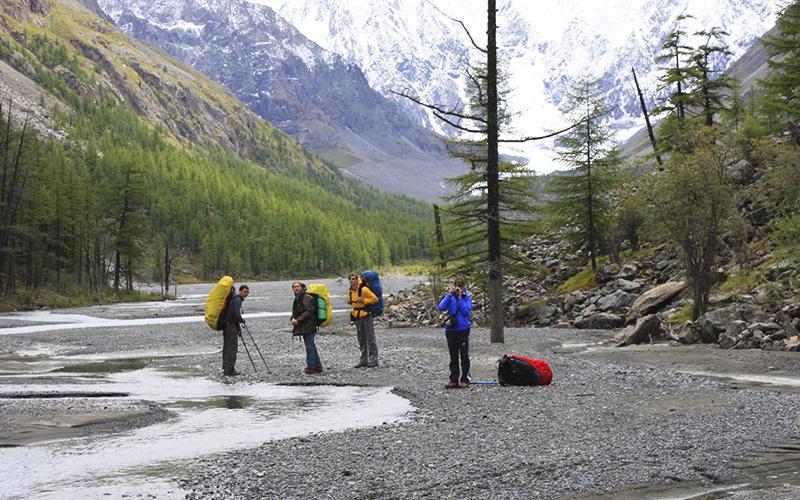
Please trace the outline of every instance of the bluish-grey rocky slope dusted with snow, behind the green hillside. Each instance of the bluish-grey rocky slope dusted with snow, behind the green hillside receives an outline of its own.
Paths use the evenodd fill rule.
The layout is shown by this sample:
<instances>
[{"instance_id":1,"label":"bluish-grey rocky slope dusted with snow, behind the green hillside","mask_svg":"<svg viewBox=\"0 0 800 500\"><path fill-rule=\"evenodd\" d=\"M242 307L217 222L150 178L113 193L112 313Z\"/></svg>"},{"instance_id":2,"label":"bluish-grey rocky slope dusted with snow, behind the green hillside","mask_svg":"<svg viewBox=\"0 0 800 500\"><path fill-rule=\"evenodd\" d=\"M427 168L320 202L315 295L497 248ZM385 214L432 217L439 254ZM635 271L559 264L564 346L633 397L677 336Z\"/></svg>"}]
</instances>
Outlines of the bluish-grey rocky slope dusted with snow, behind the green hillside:
<instances>
[{"instance_id":1,"label":"bluish-grey rocky slope dusted with snow, behind the green hillside","mask_svg":"<svg viewBox=\"0 0 800 500\"><path fill-rule=\"evenodd\" d=\"M425 199L464 170L441 141L269 7L247 1L101 0L117 25L222 83L316 153L384 189Z\"/></svg>"}]
</instances>

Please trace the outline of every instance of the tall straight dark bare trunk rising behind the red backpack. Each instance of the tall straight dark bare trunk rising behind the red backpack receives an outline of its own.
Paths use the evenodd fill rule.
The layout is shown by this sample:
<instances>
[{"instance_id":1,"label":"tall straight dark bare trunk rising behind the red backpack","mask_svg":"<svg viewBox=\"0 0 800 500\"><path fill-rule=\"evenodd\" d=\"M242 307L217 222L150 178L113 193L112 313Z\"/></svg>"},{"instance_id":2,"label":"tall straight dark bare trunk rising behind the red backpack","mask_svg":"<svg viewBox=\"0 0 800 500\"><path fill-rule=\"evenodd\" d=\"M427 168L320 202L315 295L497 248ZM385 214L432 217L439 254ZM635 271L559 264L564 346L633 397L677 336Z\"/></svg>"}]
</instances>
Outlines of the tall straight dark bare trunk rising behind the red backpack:
<instances>
[{"instance_id":1,"label":"tall straight dark bare trunk rising behind the red backpack","mask_svg":"<svg viewBox=\"0 0 800 500\"><path fill-rule=\"evenodd\" d=\"M488 0L486 23L486 190L487 231L489 240L489 302L490 338L492 343L504 342L503 336L503 269L500 263L500 175L497 151L497 8Z\"/></svg>"}]
</instances>

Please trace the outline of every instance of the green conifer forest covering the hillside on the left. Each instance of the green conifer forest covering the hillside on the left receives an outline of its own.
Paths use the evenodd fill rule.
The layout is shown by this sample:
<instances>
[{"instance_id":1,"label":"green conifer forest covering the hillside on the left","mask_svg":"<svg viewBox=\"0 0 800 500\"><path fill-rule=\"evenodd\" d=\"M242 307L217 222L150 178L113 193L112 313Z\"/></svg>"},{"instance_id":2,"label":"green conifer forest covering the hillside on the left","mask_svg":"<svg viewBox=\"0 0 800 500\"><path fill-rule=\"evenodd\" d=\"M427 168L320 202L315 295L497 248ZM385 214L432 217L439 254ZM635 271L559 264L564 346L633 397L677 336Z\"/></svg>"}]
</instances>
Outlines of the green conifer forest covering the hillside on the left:
<instances>
[{"instance_id":1,"label":"green conifer forest covering the hillside on the left","mask_svg":"<svg viewBox=\"0 0 800 500\"><path fill-rule=\"evenodd\" d=\"M13 95L2 102L0 290L10 303L41 290L119 295L178 274L332 275L428 252L427 204L347 179L260 120L238 151L187 141L207 127L176 133L143 119L100 83L113 68L74 41L27 27L0 41L3 59L67 104L53 110L63 137L32 127ZM144 80L120 78L123 89Z\"/></svg>"}]
</instances>

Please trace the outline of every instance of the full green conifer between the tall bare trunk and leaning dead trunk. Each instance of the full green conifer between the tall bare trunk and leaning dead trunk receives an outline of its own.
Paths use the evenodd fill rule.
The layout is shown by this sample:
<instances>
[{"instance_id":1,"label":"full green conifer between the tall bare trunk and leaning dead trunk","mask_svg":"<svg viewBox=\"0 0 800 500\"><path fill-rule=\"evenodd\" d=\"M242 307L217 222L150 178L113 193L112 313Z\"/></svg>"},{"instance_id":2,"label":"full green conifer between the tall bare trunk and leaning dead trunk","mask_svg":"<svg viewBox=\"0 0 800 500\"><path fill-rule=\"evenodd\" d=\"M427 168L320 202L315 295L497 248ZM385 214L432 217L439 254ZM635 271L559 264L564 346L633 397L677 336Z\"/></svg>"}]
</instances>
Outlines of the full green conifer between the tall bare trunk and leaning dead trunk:
<instances>
[{"instance_id":1,"label":"full green conifer between the tall bare trunk and leaning dead trunk","mask_svg":"<svg viewBox=\"0 0 800 500\"><path fill-rule=\"evenodd\" d=\"M608 196L617 184L621 163L610 128L602 123L607 113L597 82L583 76L574 82L568 111L581 124L556 139L559 157L569 168L553 176L547 191L555 198L547 203L553 227L566 229L577 249L585 248L592 269L597 268L600 242L611 212Z\"/></svg>"}]
</instances>

